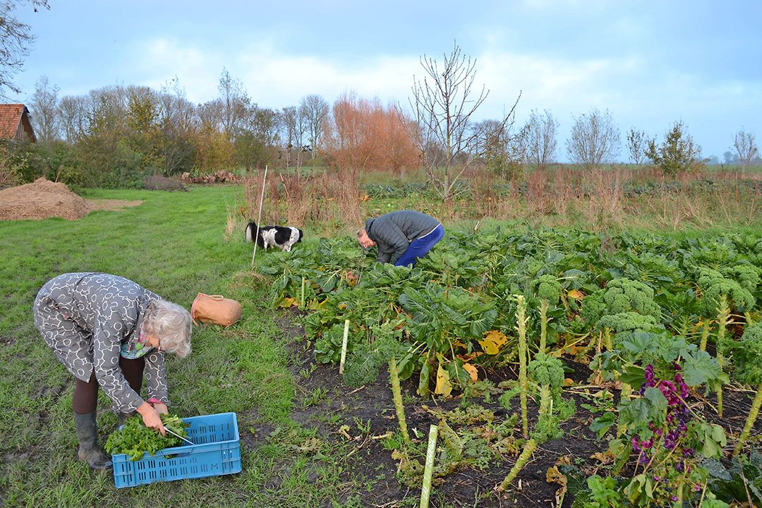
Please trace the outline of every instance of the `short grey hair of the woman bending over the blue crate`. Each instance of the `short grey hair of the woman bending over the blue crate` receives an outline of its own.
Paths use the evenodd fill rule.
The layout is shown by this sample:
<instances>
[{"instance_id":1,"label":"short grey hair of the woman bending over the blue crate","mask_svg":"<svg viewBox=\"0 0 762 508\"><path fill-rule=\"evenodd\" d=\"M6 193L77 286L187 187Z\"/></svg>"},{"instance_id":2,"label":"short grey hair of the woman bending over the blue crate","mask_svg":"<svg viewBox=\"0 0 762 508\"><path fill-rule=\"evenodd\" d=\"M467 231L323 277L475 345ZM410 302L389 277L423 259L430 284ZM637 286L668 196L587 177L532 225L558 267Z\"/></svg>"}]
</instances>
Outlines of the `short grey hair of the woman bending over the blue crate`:
<instances>
[{"instance_id":1,"label":"short grey hair of the woman bending over the blue crate","mask_svg":"<svg viewBox=\"0 0 762 508\"><path fill-rule=\"evenodd\" d=\"M146 310L143 331L154 334L162 350L181 358L191 354L191 315L176 303L154 300Z\"/></svg>"}]
</instances>

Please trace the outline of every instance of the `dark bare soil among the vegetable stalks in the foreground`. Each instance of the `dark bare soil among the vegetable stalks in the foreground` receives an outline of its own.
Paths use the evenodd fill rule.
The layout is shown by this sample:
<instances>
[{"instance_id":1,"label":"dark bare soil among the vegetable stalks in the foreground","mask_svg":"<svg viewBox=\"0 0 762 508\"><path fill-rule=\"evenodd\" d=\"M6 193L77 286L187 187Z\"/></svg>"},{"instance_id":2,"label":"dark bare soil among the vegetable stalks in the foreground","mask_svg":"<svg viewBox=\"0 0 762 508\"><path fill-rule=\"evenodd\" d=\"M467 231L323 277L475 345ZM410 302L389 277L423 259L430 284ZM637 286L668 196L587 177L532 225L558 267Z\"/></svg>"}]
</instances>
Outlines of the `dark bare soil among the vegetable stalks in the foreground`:
<instances>
[{"instance_id":1,"label":"dark bare soil among the vegetable stalks in the foreground","mask_svg":"<svg viewBox=\"0 0 762 508\"><path fill-rule=\"evenodd\" d=\"M305 398L318 388L325 391L326 395L317 404L309 406L295 404L292 417L297 422L318 430L321 439L328 443L347 443L347 437L342 436L338 429L341 424L351 427L349 434L353 438L354 448L347 453L343 476L347 481L360 482L367 488L347 493L347 497L350 494L360 495L362 506L389 507L402 506L403 502L411 503L419 499L420 488L411 488L398 481L398 461L392 458L392 452L384 448L383 439L373 439L373 436L382 436L398 430L388 372L382 372L373 384L362 388L348 388L338 374L337 366L314 366L314 348L306 347L306 342L299 340L303 338L304 331L293 321L293 315L287 315L280 320L279 326L287 335L292 359L290 369L299 391ZM577 385L587 384L591 375L588 366L570 357L564 358L564 361L568 368L566 374L568 378ZM305 379L303 373L310 370L312 370L311 374ZM499 369L491 372L488 379L497 385L507 379L516 379L516 374L512 369ZM426 439L425 435L429 426L436 424L437 421L421 406L423 404L429 407L438 405L450 411L459 407L461 400L459 395L450 401L422 399L415 393L414 381L417 382L415 375L402 382L403 400L411 401L405 404L405 417L408 429L417 428L423 436L422 439ZM509 490L498 493L495 487L513 467L515 460L511 458L482 471L472 468L459 469L443 478L443 481L434 487L434 493L441 494L450 506L556 506L555 493L559 489L559 484L546 482L548 468L557 464L560 458L568 457L584 474L592 475L604 465L591 455L596 452L605 452L607 449L605 440L607 438L602 441L597 440L588 428L594 417L600 416L581 407L581 404L590 404L591 401L580 395L571 393L569 395L575 398L577 411L570 420L562 424L564 436L539 446ZM618 391L615 396L618 399ZM510 411L506 411L498 404L497 397L492 398L490 403L478 402L494 411L497 418L519 412L518 398L514 399ZM722 420L712 413L710 404L713 404L711 396L706 403L696 404L696 409L701 411L707 420L722 424L726 431L738 433L751 406L751 396L743 391L725 391L725 414ZM531 428L538 409L531 399L528 409ZM339 415L340 423L338 424L331 423L330 417L335 415ZM358 421L370 423L370 432L367 435L360 435L357 430ZM762 432L762 423L758 422L755 429ZM623 474L627 473L626 468ZM571 506L573 501L571 495L566 495L562 508ZM438 506L434 502L434 494L432 494L432 506Z\"/></svg>"}]
</instances>

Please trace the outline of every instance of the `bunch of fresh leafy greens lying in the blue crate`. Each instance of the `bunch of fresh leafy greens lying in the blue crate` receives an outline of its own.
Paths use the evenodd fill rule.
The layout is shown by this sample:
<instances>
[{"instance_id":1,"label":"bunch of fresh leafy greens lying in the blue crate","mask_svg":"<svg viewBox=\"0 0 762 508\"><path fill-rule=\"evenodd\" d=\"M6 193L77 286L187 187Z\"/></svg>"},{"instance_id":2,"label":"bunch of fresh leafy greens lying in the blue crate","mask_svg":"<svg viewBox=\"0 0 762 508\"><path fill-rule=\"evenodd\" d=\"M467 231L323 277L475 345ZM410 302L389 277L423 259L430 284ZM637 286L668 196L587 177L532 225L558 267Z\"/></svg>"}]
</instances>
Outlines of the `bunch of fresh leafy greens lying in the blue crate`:
<instances>
[{"instance_id":1,"label":"bunch of fresh leafy greens lying in the blue crate","mask_svg":"<svg viewBox=\"0 0 762 508\"><path fill-rule=\"evenodd\" d=\"M185 437L185 423L177 415L162 414L162 424L178 436ZM158 450L182 446L183 440L167 433L164 437L149 427L146 427L140 417L130 417L120 430L115 430L108 436L106 451L111 454L124 453L130 460L139 460L143 454L155 455Z\"/></svg>"}]
</instances>

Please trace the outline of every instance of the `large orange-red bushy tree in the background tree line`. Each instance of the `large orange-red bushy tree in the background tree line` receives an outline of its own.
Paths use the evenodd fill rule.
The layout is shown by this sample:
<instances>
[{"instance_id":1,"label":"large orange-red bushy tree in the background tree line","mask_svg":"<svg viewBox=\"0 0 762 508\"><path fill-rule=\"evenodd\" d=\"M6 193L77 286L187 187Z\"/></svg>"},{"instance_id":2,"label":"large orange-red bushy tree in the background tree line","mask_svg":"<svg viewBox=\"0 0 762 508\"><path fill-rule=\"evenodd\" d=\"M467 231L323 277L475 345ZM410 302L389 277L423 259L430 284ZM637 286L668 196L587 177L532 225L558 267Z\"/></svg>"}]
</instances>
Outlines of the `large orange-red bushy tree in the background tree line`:
<instances>
[{"instance_id":1,"label":"large orange-red bushy tree in the background tree line","mask_svg":"<svg viewBox=\"0 0 762 508\"><path fill-rule=\"evenodd\" d=\"M418 149L408 135L410 123L394 106L348 93L333 106L325 155L335 168L394 171L418 167Z\"/></svg>"}]
</instances>

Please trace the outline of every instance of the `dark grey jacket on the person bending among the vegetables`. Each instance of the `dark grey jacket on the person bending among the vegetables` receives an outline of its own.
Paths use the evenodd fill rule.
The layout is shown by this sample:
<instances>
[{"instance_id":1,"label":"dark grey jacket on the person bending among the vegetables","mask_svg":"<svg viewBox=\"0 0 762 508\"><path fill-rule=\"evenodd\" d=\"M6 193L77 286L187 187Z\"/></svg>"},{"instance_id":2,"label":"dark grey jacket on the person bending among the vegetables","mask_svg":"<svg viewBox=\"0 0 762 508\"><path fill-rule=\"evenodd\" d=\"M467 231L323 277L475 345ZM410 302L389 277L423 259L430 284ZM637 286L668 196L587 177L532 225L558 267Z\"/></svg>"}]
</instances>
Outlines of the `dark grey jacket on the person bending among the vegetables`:
<instances>
[{"instance_id":1,"label":"dark grey jacket on the person bending among the vegetables","mask_svg":"<svg viewBox=\"0 0 762 508\"><path fill-rule=\"evenodd\" d=\"M415 210L399 210L365 221L368 237L378 244L379 263L396 263L410 247L410 242L440 225L434 217Z\"/></svg>"}]
</instances>

